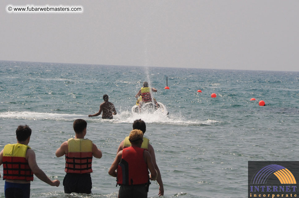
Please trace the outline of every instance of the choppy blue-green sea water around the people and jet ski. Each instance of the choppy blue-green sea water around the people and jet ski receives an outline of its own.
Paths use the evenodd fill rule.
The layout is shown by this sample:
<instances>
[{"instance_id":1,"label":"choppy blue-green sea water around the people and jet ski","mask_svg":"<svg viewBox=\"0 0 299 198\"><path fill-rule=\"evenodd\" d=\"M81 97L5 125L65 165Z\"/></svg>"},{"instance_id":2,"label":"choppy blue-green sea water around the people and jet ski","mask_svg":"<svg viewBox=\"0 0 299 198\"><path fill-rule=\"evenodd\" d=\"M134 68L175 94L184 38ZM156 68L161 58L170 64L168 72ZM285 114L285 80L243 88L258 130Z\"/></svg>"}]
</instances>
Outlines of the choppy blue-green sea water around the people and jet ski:
<instances>
[{"instance_id":1,"label":"choppy blue-green sea water around the people and jet ski","mask_svg":"<svg viewBox=\"0 0 299 198\"><path fill-rule=\"evenodd\" d=\"M169 90L164 89L166 77ZM158 90L153 95L168 116L131 113L143 81ZM88 118L99 111L104 94L117 115ZM74 136L78 118L87 121L86 138L103 152L93 159L91 195L64 194L65 159L55 156L61 143ZM29 146L39 167L61 181L52 187L35 176L31 197L116 198L119 187L108 170L139 118L155 150L164 197L247 197L248 161L298 160L299 72L0 61L1 149L16 142L18 125L29 125ZM157 197L158 187L153 181L148 196Z\"/></svg>"}]
</instances>

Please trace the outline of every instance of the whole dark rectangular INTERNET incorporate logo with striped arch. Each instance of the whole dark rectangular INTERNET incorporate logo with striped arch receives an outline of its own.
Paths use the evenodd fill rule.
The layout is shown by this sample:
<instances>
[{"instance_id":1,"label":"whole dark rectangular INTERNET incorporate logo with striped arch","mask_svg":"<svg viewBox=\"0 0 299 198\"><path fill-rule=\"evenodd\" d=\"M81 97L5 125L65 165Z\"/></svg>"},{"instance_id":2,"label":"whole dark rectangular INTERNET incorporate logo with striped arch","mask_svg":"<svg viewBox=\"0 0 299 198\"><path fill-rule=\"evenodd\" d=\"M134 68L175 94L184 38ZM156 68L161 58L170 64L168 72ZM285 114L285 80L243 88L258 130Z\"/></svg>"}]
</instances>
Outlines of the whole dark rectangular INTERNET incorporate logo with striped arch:
<instances>
[{"instance_id":1,"label":"whole dark rectangular INTERNET incorporate logo with striped arch","mask_svg":"<svg viewBox=\"0 0 299 198\"><path fill-rule=\"evenodd\" d=\"M298 161L248 161L248 197L299 197L298 168Z\"/></svg>"}]
</instances>

